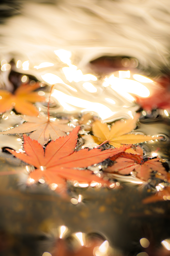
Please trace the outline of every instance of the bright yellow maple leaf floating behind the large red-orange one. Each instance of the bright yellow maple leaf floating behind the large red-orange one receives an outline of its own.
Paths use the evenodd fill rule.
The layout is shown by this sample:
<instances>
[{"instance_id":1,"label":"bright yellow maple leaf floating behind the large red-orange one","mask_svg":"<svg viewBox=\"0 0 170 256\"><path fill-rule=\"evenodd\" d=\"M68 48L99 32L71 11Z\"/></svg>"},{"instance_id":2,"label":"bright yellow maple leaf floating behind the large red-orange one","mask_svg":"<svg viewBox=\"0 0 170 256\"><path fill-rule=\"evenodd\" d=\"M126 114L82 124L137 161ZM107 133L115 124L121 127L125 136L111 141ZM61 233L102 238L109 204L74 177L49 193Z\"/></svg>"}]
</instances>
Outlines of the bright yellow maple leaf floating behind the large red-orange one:
<instances>
[{"instance_id":1,"label":"bright yellow maple leaf floating behind the large red-orange one","mask_svg":"<svg viewBox=\"0 0 170 256\"><path fill-rule=\"evenodd\" d=\"M95 121L92 127L93 134L96 137L96 139L93 137L95 142L98 144L108 142L110 145L119 148L122 146L122 144L137 144L156 139L156 136L153 138L151 136L141 134L127 134L135 129L138 117L139 116L136 115L134 119L124 120L123 122L116 121L114 124L112 124L110 130L106 123L103 124L98 120ZM126 152L140 154L132 148L128 149Z\"/></svg>"}]
</instances>

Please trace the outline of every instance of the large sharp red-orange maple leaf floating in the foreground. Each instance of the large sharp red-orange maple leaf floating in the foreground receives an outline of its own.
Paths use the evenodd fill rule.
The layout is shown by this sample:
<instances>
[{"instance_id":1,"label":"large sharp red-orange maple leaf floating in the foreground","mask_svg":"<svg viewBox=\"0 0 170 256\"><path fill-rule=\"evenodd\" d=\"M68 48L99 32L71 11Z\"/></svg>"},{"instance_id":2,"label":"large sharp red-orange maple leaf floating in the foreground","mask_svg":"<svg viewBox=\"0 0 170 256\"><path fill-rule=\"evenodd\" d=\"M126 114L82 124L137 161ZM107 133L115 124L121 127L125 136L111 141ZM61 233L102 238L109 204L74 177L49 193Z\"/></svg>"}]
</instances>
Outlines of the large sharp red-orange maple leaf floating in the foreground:
<instances>
[{"instance_id":1,"label":"large sharp red-orange maple leaf floating in the foreground","mask_svg":"<svg viewBox=\"0 0 170 256\"><path fill-rule=\"evenodd\" d=\"M110 156L118 154L130 145L115 149L88 148L80 151L74 151L77 143L77 132L80 127L75 129L66 137L60 137L56 141L51 141L45 149L35 140L23 135L25 153L18 153L9 150L14 156L25 163L34 165L37 169L30 173L30 178L35 182L44 177L48 184L57 184L59 188L66 188L66 180L76 180L77 182L91 183L93 180L97 183L107 183L102 178L97 177L89 170L80 170L89 165L97 164Z\"/></svg>"}]
</instances>

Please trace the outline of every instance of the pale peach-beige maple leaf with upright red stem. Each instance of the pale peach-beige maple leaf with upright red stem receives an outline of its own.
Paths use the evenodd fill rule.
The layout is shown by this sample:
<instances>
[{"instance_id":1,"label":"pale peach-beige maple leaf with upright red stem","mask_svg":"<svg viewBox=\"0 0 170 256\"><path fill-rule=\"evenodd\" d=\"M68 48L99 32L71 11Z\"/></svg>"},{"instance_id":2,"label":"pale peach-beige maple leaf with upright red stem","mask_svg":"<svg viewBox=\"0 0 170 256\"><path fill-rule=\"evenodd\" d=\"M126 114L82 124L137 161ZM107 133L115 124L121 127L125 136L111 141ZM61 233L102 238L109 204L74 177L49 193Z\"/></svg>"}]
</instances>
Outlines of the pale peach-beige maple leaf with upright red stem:
<instances>
[{"instance_id":1,"label":"pale peach-beige maple leaf with upright red stem","mask_svg":"<svg viewBox=\"0 0 170 256\"><path fill-rule=\"evenodd\" d=\"M73 130L73 128L68 125L68 120L48 118L47 116L26 116L24 119L27 123L23 123L10 130L0 132L0 134L23 134L33 131L30 134L30 138L37 140L44 146L50 138L52 140L56 140L60 136L66 136L67 132Z\"/></svg>"}]
</instances>

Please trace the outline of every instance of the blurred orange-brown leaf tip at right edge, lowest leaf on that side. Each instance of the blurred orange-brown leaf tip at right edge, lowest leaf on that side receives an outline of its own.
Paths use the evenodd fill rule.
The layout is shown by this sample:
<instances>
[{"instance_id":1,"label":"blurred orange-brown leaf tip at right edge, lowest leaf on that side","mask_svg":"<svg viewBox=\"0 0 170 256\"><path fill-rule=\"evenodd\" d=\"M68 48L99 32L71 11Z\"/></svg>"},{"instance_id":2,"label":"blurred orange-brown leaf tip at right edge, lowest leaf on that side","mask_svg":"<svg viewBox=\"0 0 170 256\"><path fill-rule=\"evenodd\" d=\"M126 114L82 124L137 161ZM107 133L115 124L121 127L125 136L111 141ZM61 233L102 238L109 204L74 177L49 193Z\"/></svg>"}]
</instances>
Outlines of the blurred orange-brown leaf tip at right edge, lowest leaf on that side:
<instances>
[{"instance_id":1,"label":"blurred orange-brown leaf tip at right edge, lowest leaf on that side","mask_svg":"<svg viewBox=\"0 0 170 256\"><path fill-rule=\"evenodd\" d=\"M166 187L162 191L158 191L154 195L143 199L142 203L149 204L157 201L164 201L164 200L168 200L167 197L170 200L170 187Z\"/></svg>"}]
</instances>

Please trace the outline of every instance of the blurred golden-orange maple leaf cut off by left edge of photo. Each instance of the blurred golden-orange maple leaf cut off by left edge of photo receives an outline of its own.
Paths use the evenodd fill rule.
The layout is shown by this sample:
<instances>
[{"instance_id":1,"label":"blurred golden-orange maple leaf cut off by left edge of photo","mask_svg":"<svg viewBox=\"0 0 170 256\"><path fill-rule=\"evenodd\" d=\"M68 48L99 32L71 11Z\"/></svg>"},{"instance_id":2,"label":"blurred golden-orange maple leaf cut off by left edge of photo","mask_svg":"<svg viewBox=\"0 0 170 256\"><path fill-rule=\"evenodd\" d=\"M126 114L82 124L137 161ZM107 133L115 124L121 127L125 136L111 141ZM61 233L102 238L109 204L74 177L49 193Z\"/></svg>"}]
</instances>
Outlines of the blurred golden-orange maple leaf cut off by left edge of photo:
<instances>
[{"instance_id":1,"label":"blurred golden-orange maple leaf cut off by left edge of photo","mask_svg":"<svg viewBox=\"0 0 170 256\"><path fill-rule=\"evenodd\" d=\"M33 92L39 87L39 83L36 83L34 86L23 84L17 88L14 94L6 90L0 90L2 97L0 99L0 112L4 113L6 110L14 107L18 113L23 115L37 116L38 110L32 103L44 99L37 92Z\"/></svg>"}]
</instances>

